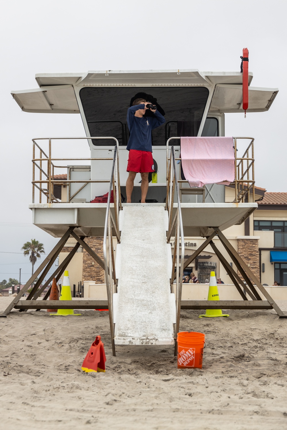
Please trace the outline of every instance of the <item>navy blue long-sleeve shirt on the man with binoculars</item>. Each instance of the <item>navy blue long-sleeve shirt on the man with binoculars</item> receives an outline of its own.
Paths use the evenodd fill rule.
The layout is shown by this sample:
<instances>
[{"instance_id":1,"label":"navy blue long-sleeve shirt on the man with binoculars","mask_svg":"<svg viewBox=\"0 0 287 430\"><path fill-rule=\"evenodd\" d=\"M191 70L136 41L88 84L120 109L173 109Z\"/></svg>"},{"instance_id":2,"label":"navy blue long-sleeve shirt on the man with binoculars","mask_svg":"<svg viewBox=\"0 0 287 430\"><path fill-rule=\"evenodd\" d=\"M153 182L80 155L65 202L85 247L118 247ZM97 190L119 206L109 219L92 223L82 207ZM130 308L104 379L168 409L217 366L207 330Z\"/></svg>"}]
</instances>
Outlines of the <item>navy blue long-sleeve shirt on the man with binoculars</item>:
<instances>
[{"instance_id":1,"label":"navy blue long-sleeve shirt on the man with binoculars","mask_svg":"<svg viewBox=\"0 0 287 430\"><path fill-rule=\"evenodd\" d=\"M127 144L127 150L136 149L137 151L152 152L151 148L151 130L165 123L164 117L155 111L155 117L142 118L135 117L136 111L144 109L145 104L137 104L129 107L127 111L127 125L130 130L130 138Z\"/></svg>"}]
</instances>

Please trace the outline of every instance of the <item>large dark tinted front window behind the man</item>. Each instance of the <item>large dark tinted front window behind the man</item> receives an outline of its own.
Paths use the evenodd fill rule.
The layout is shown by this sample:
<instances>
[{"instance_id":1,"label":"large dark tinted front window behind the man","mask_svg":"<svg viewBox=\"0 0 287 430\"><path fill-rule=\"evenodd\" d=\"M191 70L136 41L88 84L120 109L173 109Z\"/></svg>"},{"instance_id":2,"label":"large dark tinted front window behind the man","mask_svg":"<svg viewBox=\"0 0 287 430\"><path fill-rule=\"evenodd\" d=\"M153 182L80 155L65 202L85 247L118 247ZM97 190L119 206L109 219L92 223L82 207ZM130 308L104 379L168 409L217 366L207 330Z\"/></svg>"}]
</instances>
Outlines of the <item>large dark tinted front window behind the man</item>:
<instances>
[{"instance_id":1,"label":"large dark tinted front window behind the man","mask_svg":"<svg viewBox=\"0 0 287 430\"><path fill-rule=\"evenodd\" d=\"M80 90L80 99L90 135L113 136L119 144L127 144L127 109L138 92L156 99L154 103L166 120L164 125L153 130L153 145L165 145L169 137L198 134L209 94L205 87L85 87ZM93 144L114 145L114 141L93 141Z\"/></svg>"}]
</instances>

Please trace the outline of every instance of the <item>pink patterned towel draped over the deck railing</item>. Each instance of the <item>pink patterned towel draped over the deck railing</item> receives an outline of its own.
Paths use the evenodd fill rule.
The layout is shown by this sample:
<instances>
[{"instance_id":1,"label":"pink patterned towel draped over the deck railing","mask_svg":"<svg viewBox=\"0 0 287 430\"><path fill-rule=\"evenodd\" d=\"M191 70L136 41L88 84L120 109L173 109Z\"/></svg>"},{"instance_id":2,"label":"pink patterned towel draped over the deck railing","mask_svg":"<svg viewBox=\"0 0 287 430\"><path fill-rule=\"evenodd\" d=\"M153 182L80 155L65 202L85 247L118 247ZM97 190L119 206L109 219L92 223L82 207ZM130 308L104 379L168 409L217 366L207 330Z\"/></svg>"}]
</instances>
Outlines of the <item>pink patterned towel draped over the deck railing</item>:
<instances>
[{"instance_id":1,"label":"pink patterned towel draped over the deck railing","mask_svg":"<svg viewBox=\"0 0 287 430\"><path fill-rule=\"evenodd\" d=\"M182 137L180 151L185 179L191 187L229 185L235 179L232 137Z\"/></svg>"}]
</instances>

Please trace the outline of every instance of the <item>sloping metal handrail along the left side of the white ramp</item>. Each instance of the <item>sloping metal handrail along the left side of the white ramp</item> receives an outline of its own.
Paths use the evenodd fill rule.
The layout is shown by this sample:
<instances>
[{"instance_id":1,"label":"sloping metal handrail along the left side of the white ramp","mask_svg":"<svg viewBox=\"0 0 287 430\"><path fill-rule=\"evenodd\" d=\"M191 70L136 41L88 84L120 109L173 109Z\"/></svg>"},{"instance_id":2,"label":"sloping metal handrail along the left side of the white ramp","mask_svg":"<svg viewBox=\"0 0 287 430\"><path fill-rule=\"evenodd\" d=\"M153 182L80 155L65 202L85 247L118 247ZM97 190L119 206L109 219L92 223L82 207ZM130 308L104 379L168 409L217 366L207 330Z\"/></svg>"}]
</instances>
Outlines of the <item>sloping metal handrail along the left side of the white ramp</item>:
<instances>
[{"instance_id":1,"label":"sloping metal handrail along the left side of the white ramp","mask_svg":"<svg viewBox=\"0 0 287 430\"><path fill-rule=\"evenodd\" d=\"M116 272L115 272L112 226L114 227L114 231L117 237L117 242L119 243L120 242L119 211L122 209L121 197L120 197L120 178L119 178L119 170L118 170L118 159L119 159L118 147L115 146L113 165L111 168L110 186L108 190L108 203L107 203L107 210L105 214L105 229L104 229L104 241L103 241L105 279L106 279L106 287L107 287L108 311L109 311L109 320L110 320L110 329L111 329L111 343L112 343L112 351L114 356L116 355L116 352L115 352L115 346L114 346L113 293L117 292L117 279L116 279ZM117 193L116 193L116 187L115 187L114 169L116 169ZM112 188L113 188L113 195L114 195L114 202L115 202L114 203L115 221L110 209ZM107 242L108 242L108 258L107 258ZM108 262L108 259L109 259L109 262ZM113 281L114 281L114 284L113 284ZM114 291L113 291L113 285L114 285Z\"/></svg>"}]
</instances>

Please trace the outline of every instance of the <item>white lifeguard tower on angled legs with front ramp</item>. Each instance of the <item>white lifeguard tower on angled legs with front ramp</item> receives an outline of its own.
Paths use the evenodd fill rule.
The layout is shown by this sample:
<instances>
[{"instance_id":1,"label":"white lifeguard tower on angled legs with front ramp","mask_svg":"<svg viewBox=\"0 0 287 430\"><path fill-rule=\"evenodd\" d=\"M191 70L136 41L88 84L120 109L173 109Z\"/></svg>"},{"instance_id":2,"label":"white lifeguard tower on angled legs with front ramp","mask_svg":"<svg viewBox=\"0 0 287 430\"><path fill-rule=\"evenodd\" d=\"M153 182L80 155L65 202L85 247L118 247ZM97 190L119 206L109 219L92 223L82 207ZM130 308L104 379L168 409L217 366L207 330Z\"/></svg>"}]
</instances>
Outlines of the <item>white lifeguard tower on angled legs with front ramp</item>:
<instances>
[{"instance_id":1,"label":"white lifeguard tower on angled legs with front ramp","mask_svg":"<svg viewBox=\"0 0 287 430\"><path fill-rule=\"evenodd\" d=\"M268 111L278 89L252 87L252 77L249 73L248 113ZM223 185L189 187L181 170L182 137L224 136L224 114L242 114L240 72L89 71L37 74L36 80L37 89L12 91L22 111L80 114L86 136L33 139L33 191L29 205L33 223L60 239L2 316L13 307L23 311L108 305L114 355L115 345L176 343L181 309L274 308L280 317L286 316L222 234L222 230L243 223L257 207L254 139L234 137L233 202L225 203ZM157 182L150 182L148 203L141 204L138 174L132 203L126 204L127 109L132 99L143 93L148 101L157 104L166 119L152 133ZM237 151L239 139L247 143L244 154ZM79 157L60 157L59 147L64 145L69 154L71 140L79 143ZM80 157L83 141L89 144L89 158ZM60 199L56 175L63 169L67 178L61 179L61 183L66 193L64 196L62 192ZM107 203L89 203L106 193ZM184 259L184 235L206 238L188 260ZM216 235L235 269L217 249L213 241ZM70 236L77 240L76 246L37 292ZM103 260L85 242L85 237L93 236L103 238ZM117 238L116 258L112 237ZM171 237L175 241L173 256ZM181 300L183 270L207 244L212 246L242 300ZM47 301L49 292L43 300L37 300L54 276L59 280L79 246L105 269L108 301L55 301L51 305ZM28 298L21 301L36 277Z\"/></svg>"}]
</instances>

